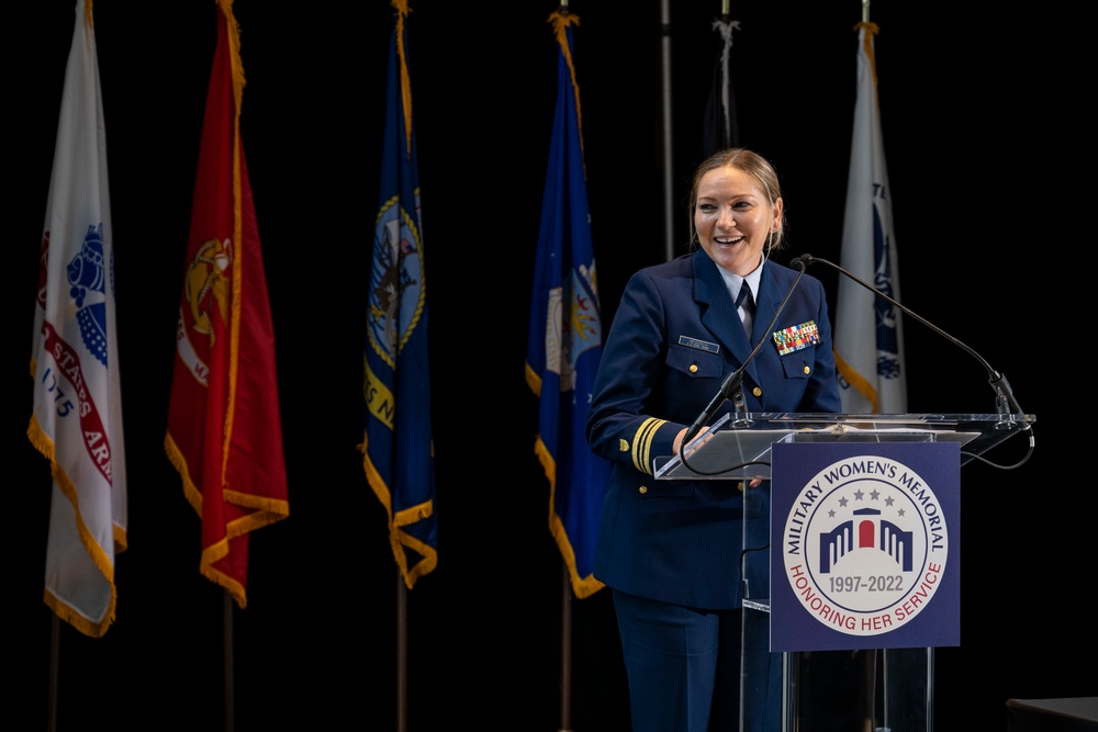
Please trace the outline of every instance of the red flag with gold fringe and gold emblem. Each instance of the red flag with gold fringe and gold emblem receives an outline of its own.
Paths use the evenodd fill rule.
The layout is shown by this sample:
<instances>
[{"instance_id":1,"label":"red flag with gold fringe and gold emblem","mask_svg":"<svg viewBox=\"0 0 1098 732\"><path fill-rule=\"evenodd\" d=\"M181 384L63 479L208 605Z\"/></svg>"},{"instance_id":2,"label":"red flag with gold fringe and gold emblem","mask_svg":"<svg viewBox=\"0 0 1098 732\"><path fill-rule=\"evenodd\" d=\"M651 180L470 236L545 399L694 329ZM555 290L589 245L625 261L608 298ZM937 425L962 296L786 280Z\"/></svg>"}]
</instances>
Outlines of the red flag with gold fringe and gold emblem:
<instances>
[{"instance_id":1,"label":"red flag with gold fringe and gold emblem","mask_svg":"<svg viewBox=\"0 0 1098 732\"><path fill-rule=\"evenodd\" d=\"M165 449L202 519L199 572L243 608L248 533L290 506L274 331L240 139L239 33L232 0L217 4Z\"/></svg>"}]
</instances>

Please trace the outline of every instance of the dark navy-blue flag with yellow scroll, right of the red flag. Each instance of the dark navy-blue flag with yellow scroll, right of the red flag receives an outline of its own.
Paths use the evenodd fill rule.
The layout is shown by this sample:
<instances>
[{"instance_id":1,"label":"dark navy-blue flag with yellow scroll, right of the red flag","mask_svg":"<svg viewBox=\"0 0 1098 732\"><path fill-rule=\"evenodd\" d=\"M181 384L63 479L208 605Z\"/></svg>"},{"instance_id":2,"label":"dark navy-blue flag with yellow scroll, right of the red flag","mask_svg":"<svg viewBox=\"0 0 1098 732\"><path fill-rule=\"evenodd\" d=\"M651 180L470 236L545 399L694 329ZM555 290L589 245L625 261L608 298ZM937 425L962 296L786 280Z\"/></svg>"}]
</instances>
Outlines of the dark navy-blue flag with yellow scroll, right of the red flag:
<instances>
[{"instance_id":1,"label":"dark navy-blue flag with yellow scroll, right of the red flag","mask_svg":"<svg viewBox=\"0 0 1098 732\"><path fill-rule=\"evenodd\" d=\"M412 125L405 20L393 0L381 201L373 229L361 450L370 487L389 515L389 542L411 589L438 563L435 455L427 360L419 173Z\"/></svg>"}]
</instances>

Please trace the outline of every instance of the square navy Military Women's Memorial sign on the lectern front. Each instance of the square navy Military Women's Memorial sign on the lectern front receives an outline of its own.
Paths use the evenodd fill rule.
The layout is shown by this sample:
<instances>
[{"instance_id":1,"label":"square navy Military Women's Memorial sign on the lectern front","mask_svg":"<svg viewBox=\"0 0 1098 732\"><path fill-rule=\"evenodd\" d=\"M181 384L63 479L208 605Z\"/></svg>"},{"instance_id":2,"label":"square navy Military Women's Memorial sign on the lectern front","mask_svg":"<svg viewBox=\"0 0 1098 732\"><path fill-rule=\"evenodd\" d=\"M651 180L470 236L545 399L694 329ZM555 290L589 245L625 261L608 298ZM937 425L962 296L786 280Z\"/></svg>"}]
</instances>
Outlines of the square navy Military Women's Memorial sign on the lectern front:
<instances>
[{"instance_id":1,"label":"square navy Military Women's Memorial sign on the lectern front","mask_svg":"<svg viewBox=\"0 0 1098 732\"><path fill-rule=\"evenodd\" d=\"M960 645L957 442L777 442L771 652Z\"/></svg>"}]
</instances>

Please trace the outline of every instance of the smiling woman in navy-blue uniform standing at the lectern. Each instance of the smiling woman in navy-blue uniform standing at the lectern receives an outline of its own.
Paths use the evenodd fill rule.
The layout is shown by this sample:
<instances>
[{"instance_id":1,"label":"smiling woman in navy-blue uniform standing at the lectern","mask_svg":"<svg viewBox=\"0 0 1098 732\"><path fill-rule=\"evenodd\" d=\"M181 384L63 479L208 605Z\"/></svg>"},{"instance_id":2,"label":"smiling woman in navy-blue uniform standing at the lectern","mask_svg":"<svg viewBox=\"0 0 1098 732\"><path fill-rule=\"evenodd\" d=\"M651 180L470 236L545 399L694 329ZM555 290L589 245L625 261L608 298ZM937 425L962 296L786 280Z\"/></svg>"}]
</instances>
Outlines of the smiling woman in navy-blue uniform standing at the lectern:
<instances>
[{"instance_id":1,"label":"smiling woman in navy-blue uniform standing at the lectern","mask_svg":"<svg viewBox=\"0 0 1098 732\"><path fill-rule=\"evenodd\" d=\"M738 481L656 481L652 461L679 453L760 340L769 342L742 388L714 418L735 403L748 412L840 412L822 284L802 275L768 328L799 274L770 258L785 223L770 162L742 148L712 156L694 176L690 213L692 251L626 285L586 426L592 450L613 463L594 575L613 594L636 732L739 729L742 521L770 511L766 484L752 487L744 506ZM738 305L744 286L751 294ZM810 337L791 348L784 336L795 330ZM751 564L765 583L765 554ZM777 686L777 662L762 656L750 673Z\"/></svg>"}]
</instances>

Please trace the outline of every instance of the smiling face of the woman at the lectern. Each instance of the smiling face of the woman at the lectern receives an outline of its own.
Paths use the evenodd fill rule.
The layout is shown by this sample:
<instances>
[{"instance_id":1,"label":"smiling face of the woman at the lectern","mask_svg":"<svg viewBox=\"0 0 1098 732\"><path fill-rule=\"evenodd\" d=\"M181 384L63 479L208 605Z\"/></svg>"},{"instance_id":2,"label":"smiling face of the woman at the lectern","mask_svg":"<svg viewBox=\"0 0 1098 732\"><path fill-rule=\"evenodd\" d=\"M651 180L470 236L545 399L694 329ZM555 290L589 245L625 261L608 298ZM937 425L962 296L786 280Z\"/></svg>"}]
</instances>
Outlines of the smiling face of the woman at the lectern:
<instances>
[{"instance_id":1,"label":"smiling face of the woman at the lectern","mask_svg":"<svg viewBox=\"0 0 1098 732\"><path fill-rule=\"evenodd\" d=\"M771 203L754 176L726 165L698 179L693 214L705 254L746 277L762 261L766 239L781 232L782 199Z\"/></svg>"}]
</instances>

